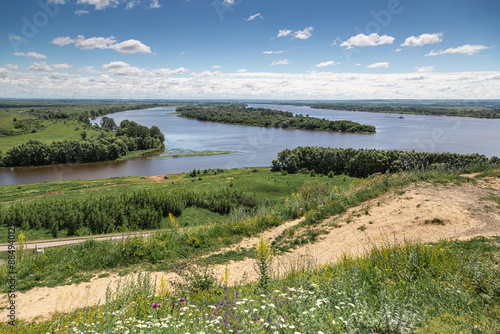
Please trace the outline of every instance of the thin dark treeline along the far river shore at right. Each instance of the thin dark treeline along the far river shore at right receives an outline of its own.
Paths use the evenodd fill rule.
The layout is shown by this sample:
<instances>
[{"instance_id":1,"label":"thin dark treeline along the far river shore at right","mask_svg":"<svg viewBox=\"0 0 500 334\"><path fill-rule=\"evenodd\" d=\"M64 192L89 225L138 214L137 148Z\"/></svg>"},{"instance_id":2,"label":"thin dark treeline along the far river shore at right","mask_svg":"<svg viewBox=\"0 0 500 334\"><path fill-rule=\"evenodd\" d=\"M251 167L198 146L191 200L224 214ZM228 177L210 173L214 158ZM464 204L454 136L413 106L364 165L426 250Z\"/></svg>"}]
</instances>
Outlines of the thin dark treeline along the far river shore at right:
<instances>
[{"instance_id":1,"label":"thin dark treeline along the far river shore at right","mask_svg":"<svg viewBox=\"0 0 500 334\"><path fill-rule=\"evenodd\" d=\"M456 107L430 107L430 106L367 106L352 104L310 104L315 109L367 111L376 113L415 114L431 116L461 116L476 118L500 118L500 107L456 108Z\"/></svg>"}]
</instances>

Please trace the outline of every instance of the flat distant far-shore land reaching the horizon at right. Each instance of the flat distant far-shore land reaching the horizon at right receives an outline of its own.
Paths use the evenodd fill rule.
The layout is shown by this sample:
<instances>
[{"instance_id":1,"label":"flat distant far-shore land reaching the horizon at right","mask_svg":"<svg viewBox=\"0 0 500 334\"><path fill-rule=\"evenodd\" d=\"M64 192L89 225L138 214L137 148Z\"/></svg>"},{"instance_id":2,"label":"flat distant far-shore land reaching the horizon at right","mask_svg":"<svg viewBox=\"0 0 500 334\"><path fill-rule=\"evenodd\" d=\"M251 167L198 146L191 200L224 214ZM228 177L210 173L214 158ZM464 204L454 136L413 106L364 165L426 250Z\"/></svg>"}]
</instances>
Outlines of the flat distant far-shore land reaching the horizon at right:
<instances>
[{"instance_id":1,"label":"flat distant far-shore land reaching the horizon at right","mask_svg":"<svg viewBox=\"0 0 500 334\"><path fill-rule=\"evenodd\" d=\"M315 109L374 113L500 118L499 100L363 100L298 102L297 105L307 105Z\"/></svg>"}]
</instances>

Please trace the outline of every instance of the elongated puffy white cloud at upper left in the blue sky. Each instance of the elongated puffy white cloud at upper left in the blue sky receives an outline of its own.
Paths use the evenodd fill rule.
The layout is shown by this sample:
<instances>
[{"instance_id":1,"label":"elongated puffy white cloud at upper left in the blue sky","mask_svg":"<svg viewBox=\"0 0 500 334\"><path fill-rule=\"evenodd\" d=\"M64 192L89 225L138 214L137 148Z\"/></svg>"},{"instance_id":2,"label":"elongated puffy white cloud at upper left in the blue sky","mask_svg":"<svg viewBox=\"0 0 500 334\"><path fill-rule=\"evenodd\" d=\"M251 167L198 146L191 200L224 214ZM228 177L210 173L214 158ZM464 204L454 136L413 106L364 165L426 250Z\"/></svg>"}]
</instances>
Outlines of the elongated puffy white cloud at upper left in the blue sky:
<instances>
[{"instance_id":1,"label":"elongated puffy white cloud at upper left in the blue sky","mask_svg":"<svg viewBox=\"0 0 500 334\"><path fill-rule=\"evenodd\" d=\"M151 48L138 40L129 39L117 43L114 36L85 38L83 35L78 35L76 39L70 37L57 37L52 40L52 44L59 46L75 44L75 47L82 50L112 49L120 53L151 53Z\"/></svg>"}]
</instances>

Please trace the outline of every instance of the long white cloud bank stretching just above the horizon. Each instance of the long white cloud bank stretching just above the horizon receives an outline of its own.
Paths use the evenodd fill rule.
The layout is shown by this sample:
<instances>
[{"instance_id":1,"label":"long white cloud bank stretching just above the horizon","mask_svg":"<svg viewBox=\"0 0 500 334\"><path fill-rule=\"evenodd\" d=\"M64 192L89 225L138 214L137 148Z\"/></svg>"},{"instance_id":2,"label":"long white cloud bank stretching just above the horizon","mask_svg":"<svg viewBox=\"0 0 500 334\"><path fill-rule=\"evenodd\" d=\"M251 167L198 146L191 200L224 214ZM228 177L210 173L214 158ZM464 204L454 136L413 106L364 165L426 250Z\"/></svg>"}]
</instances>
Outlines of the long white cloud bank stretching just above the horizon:
<instances>
[{"instance_id":1,"label":"long white cloud bank stretching just above the horizon","mask_svg":"<svg viewBox=\"0 0 500 334\"><path fill-rule=\"evenodd\" d=\"M123 69L125 68L122 67ZM233 72L198 77L195 75L155 76L150 70L139 69L140 72L147 75L130 77L112 75L107 70L102 70L106 73L96 74L78 74L76 70L57 73L12 72L5 68L0 69L0 91L5 97L87 99L500 98L500 71L452 73ZM53 75L54 73L56 75ZM443 83L445 84L443 85Z\"/></svg>"}]
</instances>

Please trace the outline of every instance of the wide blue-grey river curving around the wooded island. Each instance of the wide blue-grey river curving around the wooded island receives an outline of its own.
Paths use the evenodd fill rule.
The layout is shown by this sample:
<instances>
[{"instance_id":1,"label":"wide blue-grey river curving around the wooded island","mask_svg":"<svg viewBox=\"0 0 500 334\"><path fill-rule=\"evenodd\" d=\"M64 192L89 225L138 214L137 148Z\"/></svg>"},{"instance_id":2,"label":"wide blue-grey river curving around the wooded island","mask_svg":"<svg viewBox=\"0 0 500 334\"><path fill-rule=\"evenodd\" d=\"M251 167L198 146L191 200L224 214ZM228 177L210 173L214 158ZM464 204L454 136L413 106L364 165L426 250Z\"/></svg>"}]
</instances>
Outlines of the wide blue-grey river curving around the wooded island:
<instances>
[{"instance_id":1,"label":"wide blue-grey river curving around the wooded island","mask_svg":"<svg viewBox=\"0 0 500 334\"><path fill-rule=\"evenodd\" d=\"M240 125L200 122L179 118L175 108L124 111L109 115L117 124L124 119L165 134L165 147L181 150L230 150L241 153L179 158L155 158L120 162L68 164L0 170L0 185L32 182L96 179L116 176L162 175L187 172L193 168L239 168L270 166L277 153L297 146L376 148L427 152L481 153L500 156L500 120L377 114L368 112L311 109L290 105L250 104L309 114L330 120L352 120L374 125L376 134L331 133L267 129ZM99 119L96 119L98 122Z\"/></svg>"}]
</instances>

